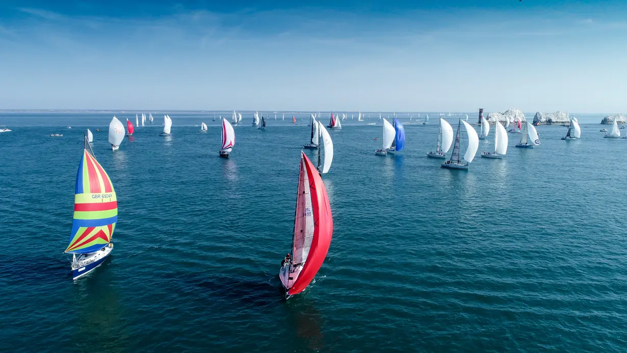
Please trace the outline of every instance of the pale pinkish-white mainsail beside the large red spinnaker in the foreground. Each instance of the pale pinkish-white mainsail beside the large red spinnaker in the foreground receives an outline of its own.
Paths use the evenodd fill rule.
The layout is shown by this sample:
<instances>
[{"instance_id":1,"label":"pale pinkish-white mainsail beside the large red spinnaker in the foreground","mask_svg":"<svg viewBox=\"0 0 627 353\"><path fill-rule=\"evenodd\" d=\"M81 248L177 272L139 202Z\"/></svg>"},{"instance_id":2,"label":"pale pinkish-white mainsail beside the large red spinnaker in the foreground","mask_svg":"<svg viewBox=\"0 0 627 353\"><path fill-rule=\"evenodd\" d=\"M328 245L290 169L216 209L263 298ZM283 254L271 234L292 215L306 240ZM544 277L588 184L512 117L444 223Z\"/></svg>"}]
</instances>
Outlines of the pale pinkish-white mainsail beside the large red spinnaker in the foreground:
<instances>
[{"instance_id":1,"label":"pale pinkish-white mainsail beside the large red spinnaker in the foreground","mask_svg":"<svg viewBox=\"0 0 627 353\"><path fill-rule=\"evenodd\" d=\"M309 178L305 170L305 162L301 156L300 172L298 172L298 194L296 196L296 219L294 221L293 263L304 263L307 261L313 239L314 212L312 211L312 196Z\"/></svg>"}]
</instances>

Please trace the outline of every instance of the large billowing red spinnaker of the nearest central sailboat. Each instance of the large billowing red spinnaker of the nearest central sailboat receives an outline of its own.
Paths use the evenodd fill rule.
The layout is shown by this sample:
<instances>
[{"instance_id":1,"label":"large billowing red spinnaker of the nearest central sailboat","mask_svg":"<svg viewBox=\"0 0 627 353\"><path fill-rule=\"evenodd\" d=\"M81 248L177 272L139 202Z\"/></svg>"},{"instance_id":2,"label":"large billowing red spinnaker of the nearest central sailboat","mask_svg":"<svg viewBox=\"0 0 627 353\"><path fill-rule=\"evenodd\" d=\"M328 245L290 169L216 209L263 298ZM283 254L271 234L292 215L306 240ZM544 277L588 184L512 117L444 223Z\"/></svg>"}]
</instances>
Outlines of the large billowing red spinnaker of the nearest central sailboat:
<instances>
[{"instance_id":1,"label":"large billowing red spinnaker of the nearest central sailboat","mask_svg":"<svg viewBox=\"0 0 627 353\"><path fill-rule=\"evenodd\" d=\"M331 238L333 236L333 216L331 215L331 206L327 189L317 169L303 152L302 157L305 162L305 170L309 178L309 188L312 197L312 211L314 212L314 238L307 256L307 261L300 271L300 275L292 288L287 292L288 295L294 295L302 292L312 282L320 266L327 257Z\"/></svg>"}]
</instances>

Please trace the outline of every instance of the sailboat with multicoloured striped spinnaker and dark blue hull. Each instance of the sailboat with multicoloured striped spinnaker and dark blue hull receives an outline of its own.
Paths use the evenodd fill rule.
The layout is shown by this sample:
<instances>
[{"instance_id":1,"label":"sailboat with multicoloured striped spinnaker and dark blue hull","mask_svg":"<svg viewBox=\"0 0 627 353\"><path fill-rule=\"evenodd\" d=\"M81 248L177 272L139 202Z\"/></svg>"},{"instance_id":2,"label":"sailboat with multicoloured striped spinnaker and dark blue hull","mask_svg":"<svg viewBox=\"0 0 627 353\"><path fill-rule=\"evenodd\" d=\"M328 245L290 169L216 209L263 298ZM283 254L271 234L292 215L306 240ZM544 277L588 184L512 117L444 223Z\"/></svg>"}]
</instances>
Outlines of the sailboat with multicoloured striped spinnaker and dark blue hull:
<instances>
[{"instance_id":1,"label":"sailboat with multicoloured striped spinnaker and dark blue hull","mask_svg":"<svg viewBox=\"0 0 627 353\"><path fill-rule=\"evenodd\" d=\"M84 142L76 174L74 221L65 249L65 253L72 254L71 270L75 280L102 265L110 255L118 213L113 183L96 161L87 136Z\"/></svg>"}]
</instances>

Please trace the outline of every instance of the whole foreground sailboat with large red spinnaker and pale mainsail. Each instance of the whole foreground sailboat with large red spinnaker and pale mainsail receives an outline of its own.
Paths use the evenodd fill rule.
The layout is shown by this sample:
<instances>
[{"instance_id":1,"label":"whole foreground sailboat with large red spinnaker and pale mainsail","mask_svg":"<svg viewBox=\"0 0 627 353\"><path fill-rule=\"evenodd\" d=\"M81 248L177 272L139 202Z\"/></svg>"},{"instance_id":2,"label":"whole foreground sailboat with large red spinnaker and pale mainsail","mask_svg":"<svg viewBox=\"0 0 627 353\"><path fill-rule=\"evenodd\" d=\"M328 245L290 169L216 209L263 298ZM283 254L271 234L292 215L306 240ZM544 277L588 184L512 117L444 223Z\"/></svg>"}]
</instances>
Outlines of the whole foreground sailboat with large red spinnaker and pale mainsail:
<instances>
[{"instance_id":1,"label":"whole foreground sailboat with large red spinnaker and pale mainsail","mask_svg":"<svg viewBox=\"0 0 627 353\"><path fill-rule=\"evenodd\" d=\"M320 270L333 236L333 216L322 178L300 153L292 250L283 259L279 278L285 298L305 290Z\"/></svg>"}]
</instances>

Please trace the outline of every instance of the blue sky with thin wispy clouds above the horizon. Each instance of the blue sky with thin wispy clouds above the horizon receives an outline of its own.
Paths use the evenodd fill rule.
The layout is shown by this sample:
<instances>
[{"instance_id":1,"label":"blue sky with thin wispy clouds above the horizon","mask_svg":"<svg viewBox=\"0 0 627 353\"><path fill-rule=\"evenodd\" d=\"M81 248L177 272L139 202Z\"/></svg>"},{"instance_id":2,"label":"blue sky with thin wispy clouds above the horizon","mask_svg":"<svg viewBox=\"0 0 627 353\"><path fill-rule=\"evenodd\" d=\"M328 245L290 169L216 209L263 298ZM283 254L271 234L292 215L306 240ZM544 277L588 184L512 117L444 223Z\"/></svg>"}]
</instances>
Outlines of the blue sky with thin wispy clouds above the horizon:
<instances>
[{"instance_id":1,"label":"blue sky with thin wispy clouds above the horizon","mask_svg":"<svg viewBox=\"0 0 627 353\"><path fill-rule=\"evenodd\" d=\"M0 0L0 109L625 112L627 1Z\"/></svg>"}]
</instances>

